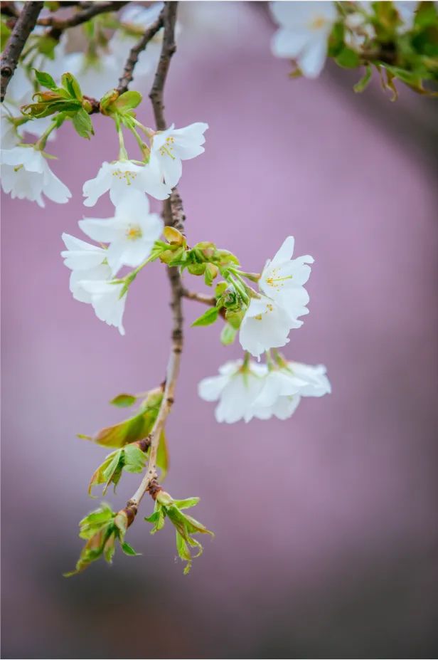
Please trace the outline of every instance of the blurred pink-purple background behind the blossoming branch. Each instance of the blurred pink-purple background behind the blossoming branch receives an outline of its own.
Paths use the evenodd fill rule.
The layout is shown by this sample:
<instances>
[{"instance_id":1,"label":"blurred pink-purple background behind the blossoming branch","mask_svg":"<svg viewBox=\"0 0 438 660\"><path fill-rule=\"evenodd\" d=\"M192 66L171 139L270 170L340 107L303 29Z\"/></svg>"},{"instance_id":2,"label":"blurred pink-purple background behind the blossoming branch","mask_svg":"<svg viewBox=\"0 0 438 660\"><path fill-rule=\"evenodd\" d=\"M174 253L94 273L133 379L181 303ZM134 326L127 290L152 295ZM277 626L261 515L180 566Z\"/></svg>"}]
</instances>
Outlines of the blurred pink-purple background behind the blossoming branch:
<instances>
[{"instance_id":1,"label":"blurred pink-purple background behind the blossoming branch","mask_svg":"<svg viewBox=\"0 0 438 660\"><path fill-rule=\"evenodd\" d=\"M166 117L210 125L181 180L188 239L253 271L288 234L314 256L311 313L285 352L324 362L333 394L286 422L216 424L196 386L239 346L189 329L203 310L186 303L166 487L201 496L215 540L183 576L145 499L128 537L143 556L65 580L105 455L75 434L121 419L115 394L161 382L170 316L159 264L132 286L126 337L71 298L60 234L80 236L82 183L117 137L105 117L91 143L63 127L50 151L70 203L1 204L3 656L436 657L436 101L355 95L357 72L331 66L289 80L264 3L184 2L181 24ZM111 210L102 198L88 214Z\"/></svg>"}]
</instances>

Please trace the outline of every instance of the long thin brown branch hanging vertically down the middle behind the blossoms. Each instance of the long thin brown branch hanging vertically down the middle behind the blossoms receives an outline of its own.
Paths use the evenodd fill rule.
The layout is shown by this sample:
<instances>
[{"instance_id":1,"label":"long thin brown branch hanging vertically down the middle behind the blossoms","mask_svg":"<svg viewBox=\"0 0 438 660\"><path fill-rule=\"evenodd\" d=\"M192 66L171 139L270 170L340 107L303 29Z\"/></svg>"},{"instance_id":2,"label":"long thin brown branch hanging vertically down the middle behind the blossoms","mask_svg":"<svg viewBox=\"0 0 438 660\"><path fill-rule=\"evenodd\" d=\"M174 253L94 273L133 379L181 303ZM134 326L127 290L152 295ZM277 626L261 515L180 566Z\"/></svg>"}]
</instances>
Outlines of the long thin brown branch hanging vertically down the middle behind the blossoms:
<instances>
[{"instance_id":1,"label":"long thin brown branch hanging vertically down the middle behind the blossoms","mask_svg":"<svg viewBox=\"0 0 438 660\"><path fill-rule=\"evenodd\" d=\"M169 72L169 65L171 57L176 51L175 45L175 23L176 11L178 2L166 2L164 5L163 24L164 24L164 38L163 45L161 46L161 56L159 64L156 69L154 78L154 85L152 85L151 98L152 107L154 109L155 122L157 130L164 130L166 128L166 120L164 119L164 85L166 84L167 73ZM181 197L179 197L176 188L173 188L170 199L164 202L163 209L164 221L167 226L176 227L179 231L184 229L184 211ZM149 451L149 463L146 473L134 493L132 498L128 501L125 512L128 515L129 525L134 520L137 507L141 502L144 494L149 491L151 496L156 494L157 489L160 488L156 481L156 455L159 446L159 439L161 431L164 429L166 419L171 412L173 405L174 392L176 387L176 380L178 379L179 366L181 362L181 352L183 350L183 311L182 311L182 298L183 286L181 283L181 275L178 268L169 268L169 281L171 284L171 310L173 317L172 334L171 334L171 353L167 363L166 384L164 386L163 399L158 415L155 420L153 429L151 430L151 449Z\"/></svg>"}]
</instances>

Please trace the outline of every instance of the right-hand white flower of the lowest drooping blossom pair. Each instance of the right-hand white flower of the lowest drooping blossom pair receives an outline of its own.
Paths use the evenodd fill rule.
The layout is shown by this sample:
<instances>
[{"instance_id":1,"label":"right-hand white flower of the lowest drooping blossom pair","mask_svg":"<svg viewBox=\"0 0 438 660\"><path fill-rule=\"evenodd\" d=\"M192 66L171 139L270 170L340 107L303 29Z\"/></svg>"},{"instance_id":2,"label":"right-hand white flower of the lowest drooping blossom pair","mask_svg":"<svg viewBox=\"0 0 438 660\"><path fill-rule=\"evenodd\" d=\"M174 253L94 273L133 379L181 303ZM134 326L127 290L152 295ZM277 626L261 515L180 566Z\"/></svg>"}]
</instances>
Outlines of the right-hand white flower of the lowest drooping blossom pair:
<instances>
[{"instance_id":1,"label":"right-hand white flower of the lowest drooping blossom pair","mask_svg":"<svg viewBox=\"0 0 438 660\"><path fill-rule=\"evenodd\" d=\"M331 392L326 367L286 362L284 367L269 371L262 390L252 405L252 416L258 419L287 419L297 409L301 397L322 397Z\"/></svg>"}]
</instances>

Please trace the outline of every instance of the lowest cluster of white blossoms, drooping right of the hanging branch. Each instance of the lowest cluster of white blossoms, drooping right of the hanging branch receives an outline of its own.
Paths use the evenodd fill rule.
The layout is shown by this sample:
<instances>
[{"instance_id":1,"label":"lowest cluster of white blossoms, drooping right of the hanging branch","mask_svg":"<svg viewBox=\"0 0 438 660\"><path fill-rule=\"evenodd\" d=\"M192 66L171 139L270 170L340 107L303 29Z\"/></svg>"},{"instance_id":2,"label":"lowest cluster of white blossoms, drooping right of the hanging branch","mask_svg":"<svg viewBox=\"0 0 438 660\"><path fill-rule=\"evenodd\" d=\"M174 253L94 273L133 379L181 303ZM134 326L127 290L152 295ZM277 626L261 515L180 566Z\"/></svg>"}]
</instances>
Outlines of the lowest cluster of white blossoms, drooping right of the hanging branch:
<instances>
[{"instance_id":1,"label":"lowest cluster of white blossoms, drooping right of the hanging branch","mask_svg":"<svg viewBox=\"0 0 438 660\"><path fill-rule=\"evenodd\" d=\"M218 401L216 420L233 424L244 419L287 419L301 397L322 397L331 392L326 367L286 362L260 365L252 360L235 360L220 367L219 375L203 379L198 394L205 401Z\"/></svg>"}]
</instances>

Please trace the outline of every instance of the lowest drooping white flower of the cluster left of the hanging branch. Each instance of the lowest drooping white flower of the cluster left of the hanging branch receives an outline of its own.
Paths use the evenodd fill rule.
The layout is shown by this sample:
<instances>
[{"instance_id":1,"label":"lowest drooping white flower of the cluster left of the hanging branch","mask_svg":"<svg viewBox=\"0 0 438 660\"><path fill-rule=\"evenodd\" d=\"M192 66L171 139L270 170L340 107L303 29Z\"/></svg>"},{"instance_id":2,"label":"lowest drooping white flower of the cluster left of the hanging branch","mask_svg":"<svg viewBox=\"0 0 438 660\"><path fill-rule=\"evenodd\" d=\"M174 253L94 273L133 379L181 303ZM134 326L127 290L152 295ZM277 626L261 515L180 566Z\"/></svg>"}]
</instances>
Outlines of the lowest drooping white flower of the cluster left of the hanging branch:
<instances>
[{"instance_id":1,"label":"lowest drooping white flower of the cluster left of the hanging branch","mask_svg":"<svg viewBox=\"0 0 438 660\"><path fill-rule=\"evenodd\" d=\"M124 335L122 318L127 292L122 295L123 283L113 283L107 280L81 280L78 282L80 288L90 294L90 302L97 318L105 321L108 325L118 328Z\"/></svg>"}]
</instances>

